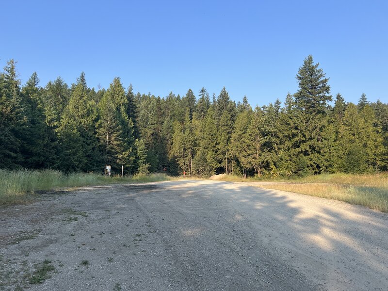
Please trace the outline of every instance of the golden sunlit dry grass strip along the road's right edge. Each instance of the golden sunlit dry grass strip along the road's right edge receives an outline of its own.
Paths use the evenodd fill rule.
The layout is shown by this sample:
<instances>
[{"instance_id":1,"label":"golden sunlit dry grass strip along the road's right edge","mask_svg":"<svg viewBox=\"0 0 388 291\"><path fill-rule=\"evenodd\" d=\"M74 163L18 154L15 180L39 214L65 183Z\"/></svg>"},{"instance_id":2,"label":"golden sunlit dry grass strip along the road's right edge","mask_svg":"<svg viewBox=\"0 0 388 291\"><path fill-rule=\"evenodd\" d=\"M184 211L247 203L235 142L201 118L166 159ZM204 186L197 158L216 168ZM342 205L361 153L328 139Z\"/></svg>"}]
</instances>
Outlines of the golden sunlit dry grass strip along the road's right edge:
<instances>
[{"instance_id":1,"label":"golden sunlit dry grass strip along the road's right edge","mask_svg":"<svg viewBox=\"0 0 388 291\"><path fill-rule=\"evenodd\" d=\"M305 178L277 180L258 178L244 180L240 177L224 176L217 180L257 182L255 183L257 186L266 189L335 199L388 213L388 173L365 175L322 174Z\"/></svg>"}]
</instances>

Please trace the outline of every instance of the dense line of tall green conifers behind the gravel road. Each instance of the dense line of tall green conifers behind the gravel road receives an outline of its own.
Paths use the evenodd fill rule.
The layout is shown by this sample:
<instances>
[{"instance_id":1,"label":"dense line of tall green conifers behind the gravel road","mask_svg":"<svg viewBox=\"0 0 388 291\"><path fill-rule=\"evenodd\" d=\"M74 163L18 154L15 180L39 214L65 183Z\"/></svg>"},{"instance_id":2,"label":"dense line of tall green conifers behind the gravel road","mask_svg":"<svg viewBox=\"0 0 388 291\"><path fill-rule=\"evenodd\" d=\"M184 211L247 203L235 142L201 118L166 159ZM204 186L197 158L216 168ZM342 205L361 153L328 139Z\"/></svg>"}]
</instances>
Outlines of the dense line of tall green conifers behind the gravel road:
<instances>
[{"instance_id":1,"label":"dense line of tall green conifers behind the gravel road","mask_svg":"<svg viewBox=\"0 0 388 291\"><path fill-rule=\"evenodd\" d=\"M21 86L15 62L0 74L0 168L65 172L166 171L177 175L303 176L365 173L388 167L388 104L358 104L337 94L308 56L296 75L299 90L254 109L237 104L224 87L210 100L189 89L155 97L87 86L84 73L70 87L60 77L39 86L33 73Z\"/></svg>"}]
</instances>

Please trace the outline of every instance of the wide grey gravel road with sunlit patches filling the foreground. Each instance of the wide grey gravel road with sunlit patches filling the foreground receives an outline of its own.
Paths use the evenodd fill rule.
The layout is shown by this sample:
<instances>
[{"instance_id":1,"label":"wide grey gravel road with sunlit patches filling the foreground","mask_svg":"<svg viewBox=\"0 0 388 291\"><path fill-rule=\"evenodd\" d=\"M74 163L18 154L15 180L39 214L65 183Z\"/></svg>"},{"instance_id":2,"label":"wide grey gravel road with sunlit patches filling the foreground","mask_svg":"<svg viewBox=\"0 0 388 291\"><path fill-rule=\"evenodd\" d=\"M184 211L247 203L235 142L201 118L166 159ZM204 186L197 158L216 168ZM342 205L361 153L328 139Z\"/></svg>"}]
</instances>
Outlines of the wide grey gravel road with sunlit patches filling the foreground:
<instances>
[{"instance_id":1,"label":"wide grey gravel road with sunlit patches filling the foreground","mask_svg":"<svg viewBox=\"0 0 388 291\"><path fill-rule=\"evenodd\" d=\"M1 208L0 260L0 290L387 291L388 215L244 183L85 187Z\"/></svg>"}]
</instances>

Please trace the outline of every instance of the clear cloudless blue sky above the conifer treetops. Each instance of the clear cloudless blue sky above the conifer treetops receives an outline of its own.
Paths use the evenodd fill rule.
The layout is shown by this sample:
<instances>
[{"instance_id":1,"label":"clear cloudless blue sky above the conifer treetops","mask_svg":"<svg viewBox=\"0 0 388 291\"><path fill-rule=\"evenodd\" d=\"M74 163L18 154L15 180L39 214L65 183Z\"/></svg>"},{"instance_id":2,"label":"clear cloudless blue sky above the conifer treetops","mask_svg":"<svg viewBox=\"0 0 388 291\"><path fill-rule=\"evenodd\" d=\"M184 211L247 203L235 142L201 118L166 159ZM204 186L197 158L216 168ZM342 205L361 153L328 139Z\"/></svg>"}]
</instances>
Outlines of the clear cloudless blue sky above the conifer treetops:
<instances>
[{"instance_id":1,"label":"clear cloudless blue sky above the conifer treetops","mask_svg":"<svg viewBox=\"0 0 388 291\"><path fill-rule=\"evenodd\" d=\"M205 87L264 105L298 89L311 54L331 94L388 102L388 1L3 1L0 66L22 82L81 71L90 87L114 77L141 93Z\"/></svg>"}]
</instances>

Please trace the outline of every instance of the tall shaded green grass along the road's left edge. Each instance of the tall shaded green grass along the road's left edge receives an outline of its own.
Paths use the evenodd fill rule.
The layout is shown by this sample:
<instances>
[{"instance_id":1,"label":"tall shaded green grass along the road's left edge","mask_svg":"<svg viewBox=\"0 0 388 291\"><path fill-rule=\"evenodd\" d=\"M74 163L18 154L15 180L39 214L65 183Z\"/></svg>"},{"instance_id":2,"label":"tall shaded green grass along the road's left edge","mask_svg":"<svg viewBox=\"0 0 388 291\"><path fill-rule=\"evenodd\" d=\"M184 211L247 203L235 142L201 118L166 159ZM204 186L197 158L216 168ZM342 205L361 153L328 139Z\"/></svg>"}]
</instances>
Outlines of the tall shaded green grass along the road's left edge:
<instances>
[{"instance_id":1,"label":"tall shaded green grass along the road's left edge","mask_svg":"<svg viewBox=\"0 0 388 291\"><path fill-rule=\"evenodd\" d=\"M95 173L64 174L54 170L0 169L0 205L23 203L27 194L60 187L79 187L123 182L153 182L172 180L164 174L135 175L132 177L104 177Z\"/></svg>"}]
</instances>

